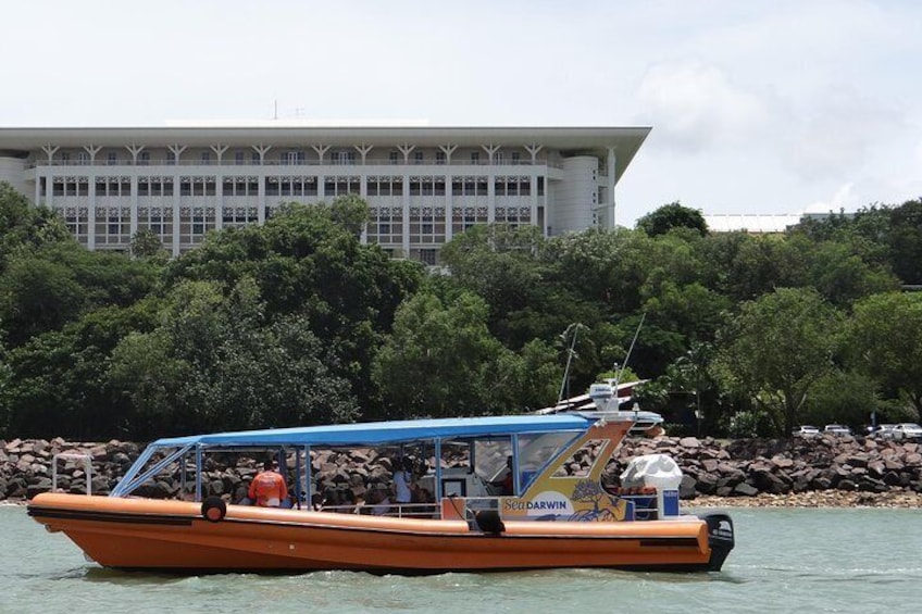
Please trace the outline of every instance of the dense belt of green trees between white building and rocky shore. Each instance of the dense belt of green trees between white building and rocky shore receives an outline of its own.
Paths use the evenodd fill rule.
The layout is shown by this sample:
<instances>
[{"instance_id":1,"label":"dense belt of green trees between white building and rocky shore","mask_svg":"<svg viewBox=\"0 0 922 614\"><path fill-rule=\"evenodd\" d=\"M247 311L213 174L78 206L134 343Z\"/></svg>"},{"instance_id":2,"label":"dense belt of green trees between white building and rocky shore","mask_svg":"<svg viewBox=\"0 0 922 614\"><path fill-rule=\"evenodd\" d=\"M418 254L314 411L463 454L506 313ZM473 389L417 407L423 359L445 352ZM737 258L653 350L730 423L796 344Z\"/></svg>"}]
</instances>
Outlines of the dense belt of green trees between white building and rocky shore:
<instances>
[{"instance_id":1,"label":"dense belt of green trees between white building and rocky shore","mask_svg":"<svg viewBox=\"0 0 922 614\"><path fill-rule=\"evenodd\" d=\"M564 389L626 361L650 409L702 435L919 415L922 295L900 290L918 283L920 209L776 236L708 233L678 202L636 230L478 225L429 271L363 245L354 196L170 259L144 229L129 253L87 251L0 184L0 437L538 409L576 329Z\"/></svg>"}]
</instances>

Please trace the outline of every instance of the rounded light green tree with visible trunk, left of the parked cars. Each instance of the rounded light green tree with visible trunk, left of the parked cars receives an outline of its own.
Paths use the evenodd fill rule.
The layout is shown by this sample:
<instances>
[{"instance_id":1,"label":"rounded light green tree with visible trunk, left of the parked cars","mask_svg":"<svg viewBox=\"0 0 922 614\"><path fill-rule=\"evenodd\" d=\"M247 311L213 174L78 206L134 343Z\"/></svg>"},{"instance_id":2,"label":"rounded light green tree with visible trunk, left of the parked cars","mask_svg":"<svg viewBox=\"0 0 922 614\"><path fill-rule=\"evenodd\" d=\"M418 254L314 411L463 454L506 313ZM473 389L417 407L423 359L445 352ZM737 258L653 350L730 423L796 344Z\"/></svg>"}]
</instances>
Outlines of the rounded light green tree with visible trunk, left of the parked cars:
<instances>
[{"instance_id":1,"label":"rounded light green tree with visible trunk, left of the parked cars","mask_svg":"<svg viewBox=\"0 0 922 614\"><path fill-rule=\"evenodd\" d=\"M748 301L719 336L718 380L748 396L776 434L790 434L808 392L834 368L840 319L810 288L780 288Z\"/></svg>"}]
</instances>

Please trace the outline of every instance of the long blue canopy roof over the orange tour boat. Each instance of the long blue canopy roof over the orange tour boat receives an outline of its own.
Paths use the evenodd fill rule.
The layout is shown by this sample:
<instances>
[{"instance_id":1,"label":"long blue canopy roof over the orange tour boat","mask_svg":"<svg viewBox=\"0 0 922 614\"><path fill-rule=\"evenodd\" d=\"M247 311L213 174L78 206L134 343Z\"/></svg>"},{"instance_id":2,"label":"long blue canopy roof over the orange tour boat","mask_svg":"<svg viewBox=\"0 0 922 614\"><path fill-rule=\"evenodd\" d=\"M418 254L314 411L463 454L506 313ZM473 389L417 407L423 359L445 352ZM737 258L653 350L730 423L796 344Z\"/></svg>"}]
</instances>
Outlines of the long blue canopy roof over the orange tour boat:
<instances>
[{"instance_id":1,"label":"long blue canopy roof over the orange tour boat","mask_svg":"<svg viewBox=\"0 0 922 614\"><path fill-rule=\"evenodd\" d=\"M575 414L372 422L174 437L158 439L151 447L378 446L512 434L582 433L595 422Z\"/></svg>"}]
</instances>

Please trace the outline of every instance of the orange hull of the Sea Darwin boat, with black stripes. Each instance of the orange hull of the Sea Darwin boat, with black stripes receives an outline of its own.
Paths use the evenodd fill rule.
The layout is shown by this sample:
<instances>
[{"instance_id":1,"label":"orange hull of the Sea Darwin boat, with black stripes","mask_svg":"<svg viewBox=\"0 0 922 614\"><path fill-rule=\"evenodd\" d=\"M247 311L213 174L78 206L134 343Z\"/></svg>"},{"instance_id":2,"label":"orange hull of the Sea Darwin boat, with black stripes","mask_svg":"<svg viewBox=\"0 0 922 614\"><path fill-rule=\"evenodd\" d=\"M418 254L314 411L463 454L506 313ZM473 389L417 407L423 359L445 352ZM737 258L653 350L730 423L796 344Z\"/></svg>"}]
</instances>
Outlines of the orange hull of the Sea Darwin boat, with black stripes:
<instances>
[{"instance_id":1,"label":"orange hull of the Sea Darwin boat, with black stripes","mask_svg":"<svg viewBox=\"0 0 922 614\"><path fill-rule=\"evenodd\" d=\"M28 513L100 565L174 573L354 569L407 575L563 567L717 571L706 521L506 522L391 518L43 493Z\"/></svg>"}]
</instances>

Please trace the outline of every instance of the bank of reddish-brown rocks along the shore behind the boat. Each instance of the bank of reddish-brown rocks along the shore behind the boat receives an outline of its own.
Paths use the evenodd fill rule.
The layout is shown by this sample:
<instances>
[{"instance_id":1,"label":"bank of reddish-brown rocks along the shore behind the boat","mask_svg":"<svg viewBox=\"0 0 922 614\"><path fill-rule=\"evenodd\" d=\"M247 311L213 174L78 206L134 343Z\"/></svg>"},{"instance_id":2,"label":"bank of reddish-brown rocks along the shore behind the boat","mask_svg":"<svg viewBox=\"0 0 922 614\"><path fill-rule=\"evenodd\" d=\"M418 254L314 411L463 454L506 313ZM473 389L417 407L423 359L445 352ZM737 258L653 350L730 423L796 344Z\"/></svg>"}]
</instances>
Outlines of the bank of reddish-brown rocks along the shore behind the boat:
<instances>
[{"instance_id":1,"label":"bank of reddish-brown rocks along the shore behind the boat","mask_svg":"<svg viewBox=\"0 0 922 614\"><path fill-rule=\"evenodd\" d=\"M91 489L108 493L142 447L52 440L0 440L0 502L21 503L51 490L55 454L86 455L92 462ZM922 446L864 437L715 440L695 437L630 439L611 461L607 475L618 476L634 455L663 453L678 463L684 477L680 497L692 508L713 506L922 506ZM591 453L569 471L578 472ZM207 466L209 493L236 500L257 472L257 461ZM319 451L314 475L324 489L364 492L390 478L390 459L374 450ZM86 492L85 462L59 459L58 488ZM176 497L178 480L158 480L144 494Z\"/></svg>"}]
</instances>

